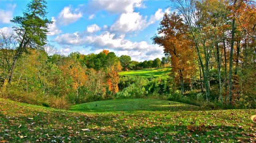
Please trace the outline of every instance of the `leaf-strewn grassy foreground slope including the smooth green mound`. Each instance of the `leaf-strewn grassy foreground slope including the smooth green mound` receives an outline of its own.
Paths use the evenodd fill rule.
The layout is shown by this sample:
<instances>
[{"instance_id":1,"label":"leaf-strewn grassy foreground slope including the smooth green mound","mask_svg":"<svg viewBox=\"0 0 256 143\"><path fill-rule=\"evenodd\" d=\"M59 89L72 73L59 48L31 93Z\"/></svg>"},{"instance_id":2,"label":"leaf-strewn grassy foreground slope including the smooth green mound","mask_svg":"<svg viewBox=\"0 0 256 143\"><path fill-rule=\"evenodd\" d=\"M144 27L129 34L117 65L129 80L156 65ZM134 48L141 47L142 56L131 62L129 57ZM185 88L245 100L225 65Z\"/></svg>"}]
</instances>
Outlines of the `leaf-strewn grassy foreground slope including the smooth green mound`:
<instances>
[{"instance_id":1,"label":"leaf-strewn grassy foreground slope including the smooth green mound","mask_svg":"<svg viewBox=\"0 0 256 143\"><path fill-rule=\"evenodd\" d=\"M90 111L86 113L43 108L0 98L0 142L248 142L256 139L256 124L249 119L250 115L256 114L256 110L184 111L196 107L155 101L112 100L96 102L97 107L94 107L95 102L72 107L72 110L85 107L85 111ZM172 108L166 107L169 103L182 105L183 108L169 111ZM114 108L106 106L108 104L117 105ZM154 109L149 107L151 104L156 105L159 111L151 111ZM159 106L161 104L164 105ZM108 108L123 112L102 112ZM143 111L145 108L148 110ZM90 131L81 130L85 128Z\"/></svg>"}]
</instances>

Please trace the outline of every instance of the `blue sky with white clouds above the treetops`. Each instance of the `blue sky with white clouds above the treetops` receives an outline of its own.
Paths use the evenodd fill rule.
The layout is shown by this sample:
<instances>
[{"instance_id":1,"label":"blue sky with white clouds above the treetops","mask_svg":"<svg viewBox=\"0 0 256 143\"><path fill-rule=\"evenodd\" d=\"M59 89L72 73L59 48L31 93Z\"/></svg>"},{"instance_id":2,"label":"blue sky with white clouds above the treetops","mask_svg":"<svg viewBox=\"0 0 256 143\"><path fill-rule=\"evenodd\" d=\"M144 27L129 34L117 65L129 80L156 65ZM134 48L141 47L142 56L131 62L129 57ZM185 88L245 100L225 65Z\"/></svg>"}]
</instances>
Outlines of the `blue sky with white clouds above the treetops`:
<instances>
[{"instance_id":1,"label":"blue sky with white clouds above the treetops","mask_svg":"<svg viewBox=\"0 0 256 143\"><path fill-rule=\"evenodd\" d=\"M0 0L0 30L11 32L14 16L22 16L29 1ZM129 55L144 61L164 56L163 47L151 38L164 13L170 13L169 0L47 1L48 43L56 53L68 55L100 53L103 49L117 56Z\"/></svg>"}]
</instances>

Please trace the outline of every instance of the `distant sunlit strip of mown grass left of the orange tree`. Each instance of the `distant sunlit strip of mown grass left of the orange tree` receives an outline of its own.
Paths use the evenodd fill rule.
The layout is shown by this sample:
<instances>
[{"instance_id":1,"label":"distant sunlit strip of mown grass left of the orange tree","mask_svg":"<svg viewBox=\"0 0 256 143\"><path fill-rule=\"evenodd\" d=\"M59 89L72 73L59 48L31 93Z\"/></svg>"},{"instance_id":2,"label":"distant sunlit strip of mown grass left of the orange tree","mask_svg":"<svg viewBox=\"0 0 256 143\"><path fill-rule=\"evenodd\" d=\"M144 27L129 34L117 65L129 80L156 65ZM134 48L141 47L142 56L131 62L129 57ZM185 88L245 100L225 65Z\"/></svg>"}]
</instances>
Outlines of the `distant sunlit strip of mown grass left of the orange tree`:
<instances>
[{"instance_id":1,"label":"distant sunlit strip of mown grass left of the orange tree","mask_svg":"<svg viewBox=\"0 0 256 143\"><path fill-rule=\"evenodd\" d=\"M160 68L160 69L143 69L136 71L123 71L119 72L119 75L122 76L144 76L144 77L152 77L152 76L167 76L171 71L171 68Z\"/></svg>"}]
</instances>

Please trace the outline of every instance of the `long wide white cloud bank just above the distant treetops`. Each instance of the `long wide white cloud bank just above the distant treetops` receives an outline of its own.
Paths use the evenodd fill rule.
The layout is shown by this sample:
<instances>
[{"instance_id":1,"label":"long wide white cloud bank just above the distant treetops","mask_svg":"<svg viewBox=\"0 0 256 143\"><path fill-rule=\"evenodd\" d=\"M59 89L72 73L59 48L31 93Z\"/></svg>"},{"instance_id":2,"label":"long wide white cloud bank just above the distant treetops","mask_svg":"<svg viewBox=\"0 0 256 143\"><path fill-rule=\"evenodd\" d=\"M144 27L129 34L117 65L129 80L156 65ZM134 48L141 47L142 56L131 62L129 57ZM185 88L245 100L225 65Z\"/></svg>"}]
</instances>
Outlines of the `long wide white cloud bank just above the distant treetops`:
<instances>
[{"instance_id":1,"label":"long wide white cloud bank just above the distant treetops","mask_svg":"<svg viewBox=\"0 0 256 143\"><path fill-rule=\"evenodd\" d=\"M92 53L100 49L110 49L118 56L129 55L132 59L143 61L164 56L163 48L158 45L148 44L146 41L132 42L124 39L124 35L116 36L108 31L100 35L82 35L78 32L66 33L57 36L55 41L60 45L70 45L70 47L86 45L92 47ZM72 46L71 46L72 45ZM62 53L64 51L62 50Z\"/></svg>"}]
</instances>

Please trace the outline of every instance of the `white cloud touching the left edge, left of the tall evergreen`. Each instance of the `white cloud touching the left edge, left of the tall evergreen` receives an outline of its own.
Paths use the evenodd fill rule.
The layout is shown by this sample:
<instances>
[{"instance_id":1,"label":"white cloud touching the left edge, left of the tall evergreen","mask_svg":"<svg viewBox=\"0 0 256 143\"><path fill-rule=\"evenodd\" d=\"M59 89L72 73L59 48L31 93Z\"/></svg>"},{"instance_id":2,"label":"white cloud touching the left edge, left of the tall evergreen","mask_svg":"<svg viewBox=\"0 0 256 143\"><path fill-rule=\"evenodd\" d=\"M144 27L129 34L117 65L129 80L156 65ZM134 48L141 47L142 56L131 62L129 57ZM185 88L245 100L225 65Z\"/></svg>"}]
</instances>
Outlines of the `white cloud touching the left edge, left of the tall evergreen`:
<instances>
[{"instance_id":1,"label":"white cloud touching the left edge, left of the tall evergreen","mask_svg":"<svg viewBox=\"0 0 256 143\"><path fill-rule=\"evenodd\" d=\"M7 6L8 10L0 9L0 23L9 24L12 20L13 10L16 7L16 4Z\"/></svg>"}]
</instances>

